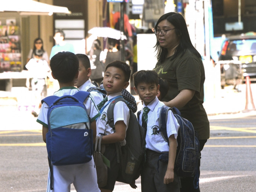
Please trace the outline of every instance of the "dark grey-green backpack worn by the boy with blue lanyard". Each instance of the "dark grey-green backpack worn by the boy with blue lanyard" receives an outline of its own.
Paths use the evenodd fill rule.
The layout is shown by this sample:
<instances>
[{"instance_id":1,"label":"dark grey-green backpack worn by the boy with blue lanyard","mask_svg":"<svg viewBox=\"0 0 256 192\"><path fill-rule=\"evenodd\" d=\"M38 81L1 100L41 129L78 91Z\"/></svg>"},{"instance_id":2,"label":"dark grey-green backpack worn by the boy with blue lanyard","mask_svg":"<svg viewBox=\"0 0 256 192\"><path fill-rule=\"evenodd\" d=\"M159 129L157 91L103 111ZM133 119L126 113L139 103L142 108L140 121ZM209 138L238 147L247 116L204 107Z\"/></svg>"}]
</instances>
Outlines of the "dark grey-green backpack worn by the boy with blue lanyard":
<instances>
[{"instance_id":1,"label":"dark grey-green backpack worn by the boy with blue lanyard","mask_svg":"<svg viewBox=\"0 0 256 192\"><path fill-rule=\"evenodd\" d=\"M107 124L109 124L114 132L114 106L117 102L123 101L127 104L123 97L114 99L107 110ZM129 105L127 104L129 107ZM117 162L121 163L121 171L117 181L130 184L131 181L140 177L142 163L145 157L145 129L139 124L136 115L130 110L129 125L126 130L126 145L117 146Z\"/></svg>"}]
</instances>

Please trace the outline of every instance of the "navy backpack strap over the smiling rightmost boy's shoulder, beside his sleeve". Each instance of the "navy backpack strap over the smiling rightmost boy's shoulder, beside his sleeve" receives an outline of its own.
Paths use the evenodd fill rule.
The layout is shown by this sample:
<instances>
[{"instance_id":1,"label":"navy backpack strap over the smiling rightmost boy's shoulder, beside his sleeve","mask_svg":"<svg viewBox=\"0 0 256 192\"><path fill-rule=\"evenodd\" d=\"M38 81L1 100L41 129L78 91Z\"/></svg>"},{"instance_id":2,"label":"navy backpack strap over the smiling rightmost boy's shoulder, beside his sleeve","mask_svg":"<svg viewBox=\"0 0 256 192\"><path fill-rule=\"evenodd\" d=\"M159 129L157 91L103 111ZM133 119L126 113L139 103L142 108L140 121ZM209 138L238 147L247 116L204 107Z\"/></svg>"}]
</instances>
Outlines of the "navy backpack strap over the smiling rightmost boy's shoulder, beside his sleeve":
<instances>
[{"instance_id":1,"label":"navy backpack strap over the smiling rightmost boy's shoulder, beside his sleeve","mask_svg":"<svg viewBox=\"0 0 256 192\"><path fill-rule=\"evenodd\" d=\"M168 138L167 131L166 131L166 123L167 123L167 119L168 119L168 111L169 110L172 110L172 108L170 108L166 105L164 105L161 108L159 119L158 119L159 131L157 131L158 133L161 132L163 139L168 143L168 145L169 145L169 138Z\"/></svg>"}]
</instances>

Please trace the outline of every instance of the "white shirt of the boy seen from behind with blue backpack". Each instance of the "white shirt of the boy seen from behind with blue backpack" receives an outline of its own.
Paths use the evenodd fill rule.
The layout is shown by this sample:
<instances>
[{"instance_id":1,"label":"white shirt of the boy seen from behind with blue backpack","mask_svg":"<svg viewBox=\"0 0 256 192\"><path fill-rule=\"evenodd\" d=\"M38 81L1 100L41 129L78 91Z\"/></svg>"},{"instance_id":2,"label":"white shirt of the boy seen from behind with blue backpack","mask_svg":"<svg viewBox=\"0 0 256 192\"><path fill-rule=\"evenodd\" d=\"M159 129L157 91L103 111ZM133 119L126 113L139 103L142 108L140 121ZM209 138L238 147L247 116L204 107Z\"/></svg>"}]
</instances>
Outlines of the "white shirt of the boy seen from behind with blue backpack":
<instances>
[{"instance_id":1,"label":"white shirt of the boy seen from behind with blue backpack","mask_svg":"<svg viewBox=\"0 0 256 192\"><path fill-rule=\"evenodd\" d=\"M75 87L62 87L58 91L54 92L53 95L58 97L63 95L73 95L78 91L79 90ZM85 99L84 105L85 105L88 116L91 118L91 122L93 122L94 120L96 120L97 117L99 117L100 114L99 114L97 105L95 104L91 95L89 95L88 98ZM48 127L47 112L48 112L48 105L44 102L42 104L40 113L37 117L37 122L44 125L45 127Z\"/></svg>"}]
</instances>

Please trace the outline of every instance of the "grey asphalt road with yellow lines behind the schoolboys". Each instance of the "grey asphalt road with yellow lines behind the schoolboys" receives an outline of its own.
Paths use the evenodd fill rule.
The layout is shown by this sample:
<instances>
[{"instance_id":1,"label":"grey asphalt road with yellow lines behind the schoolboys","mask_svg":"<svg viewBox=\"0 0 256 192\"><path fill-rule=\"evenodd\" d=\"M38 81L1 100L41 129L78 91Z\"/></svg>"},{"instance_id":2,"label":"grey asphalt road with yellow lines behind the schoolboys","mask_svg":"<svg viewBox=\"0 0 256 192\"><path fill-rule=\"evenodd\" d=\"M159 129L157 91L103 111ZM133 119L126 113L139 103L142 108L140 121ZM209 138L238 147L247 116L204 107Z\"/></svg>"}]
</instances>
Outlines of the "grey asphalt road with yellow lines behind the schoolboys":
<instances>
[{"instance_id":1,"label":"grey asphalt road with yellow lines behind the schoolboys","mask_svg":"<svg viewBox=\"0 0 256 192\"><path fill-rule=\"evenodd\" d=\"M14 114L18 115L18 114ZM15 119L0 131L0 191L45 192L47 152L41 126L29 113L27 122ZM201 159L201 192L254 192L256 188L256 114L210 117L210 139ZM19 130L12 128L20 125ZM29 125L29 126L27 126ZM31 128L34 128L31 130ZM114 192L139 192L117 183ZM74 188L72 188L73 190Z\"/></svg>"}]
</instances>

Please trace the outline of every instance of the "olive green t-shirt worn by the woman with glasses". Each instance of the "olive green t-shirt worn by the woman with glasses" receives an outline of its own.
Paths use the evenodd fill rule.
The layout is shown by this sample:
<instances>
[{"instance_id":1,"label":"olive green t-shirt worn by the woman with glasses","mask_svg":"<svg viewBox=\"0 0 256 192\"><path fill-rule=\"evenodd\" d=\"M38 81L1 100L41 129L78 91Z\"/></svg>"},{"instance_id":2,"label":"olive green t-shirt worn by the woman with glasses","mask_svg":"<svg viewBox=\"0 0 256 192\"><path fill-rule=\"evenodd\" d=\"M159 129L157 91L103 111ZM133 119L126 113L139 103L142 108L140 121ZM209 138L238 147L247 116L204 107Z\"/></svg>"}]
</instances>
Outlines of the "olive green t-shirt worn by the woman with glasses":
<instances>
[{"instance_id":1,"label":"olive green t-shirt worn by the woman with glasses","mask_svg":"<svg viewBox=\"0 0 256 192\"><path fill-rule=\"evenodd\" d=\"M169 90L162 101L174 99L183 89L195 90L193 98L182 108L181 116L189 120L200 140L209 139L210 126L204 102L204 66L201 58L198 58L189 50L184 55L171 60L173 56L166 58L164 62L157 62L155 70L158 76L168 82Z\"/></svg>"}]
</instances>

